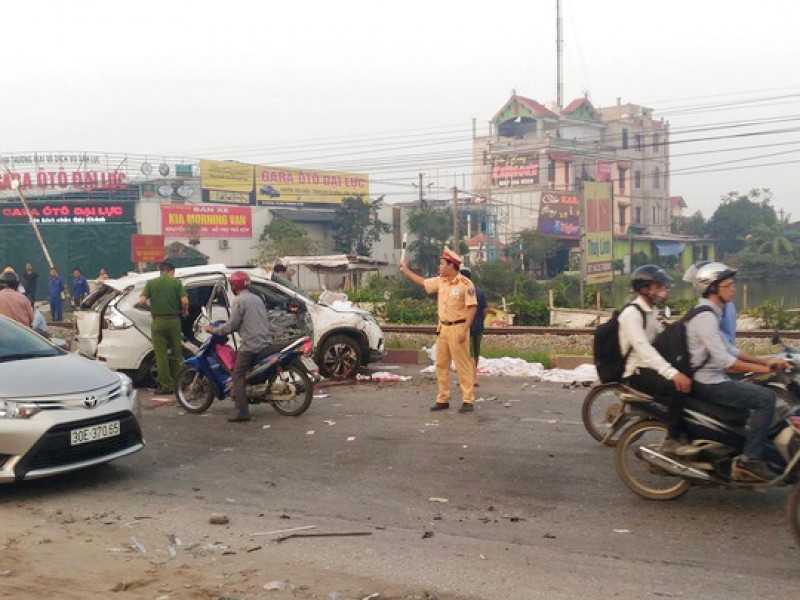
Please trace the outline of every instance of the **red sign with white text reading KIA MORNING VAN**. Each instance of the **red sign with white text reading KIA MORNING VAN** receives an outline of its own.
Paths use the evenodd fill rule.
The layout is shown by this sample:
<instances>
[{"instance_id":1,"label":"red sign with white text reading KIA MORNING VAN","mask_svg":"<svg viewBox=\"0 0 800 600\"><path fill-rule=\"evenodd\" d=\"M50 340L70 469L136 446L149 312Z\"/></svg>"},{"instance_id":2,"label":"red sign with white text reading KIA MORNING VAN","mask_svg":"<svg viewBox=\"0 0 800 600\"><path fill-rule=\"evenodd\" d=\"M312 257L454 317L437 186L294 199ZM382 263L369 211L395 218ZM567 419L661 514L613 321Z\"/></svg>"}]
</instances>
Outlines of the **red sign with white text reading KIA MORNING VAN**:
<instances>
[{"instance_id":1,"label":"red sign with white text reading KIA MORNING VAN","mask_svg":"<svg viewBox=\"0 0 800 600\"><path fill-rule=\"evenodd\" d=\"M249 206L161 206L161 233L167 237L253 237Z\"/></svg>"}]
</instances>

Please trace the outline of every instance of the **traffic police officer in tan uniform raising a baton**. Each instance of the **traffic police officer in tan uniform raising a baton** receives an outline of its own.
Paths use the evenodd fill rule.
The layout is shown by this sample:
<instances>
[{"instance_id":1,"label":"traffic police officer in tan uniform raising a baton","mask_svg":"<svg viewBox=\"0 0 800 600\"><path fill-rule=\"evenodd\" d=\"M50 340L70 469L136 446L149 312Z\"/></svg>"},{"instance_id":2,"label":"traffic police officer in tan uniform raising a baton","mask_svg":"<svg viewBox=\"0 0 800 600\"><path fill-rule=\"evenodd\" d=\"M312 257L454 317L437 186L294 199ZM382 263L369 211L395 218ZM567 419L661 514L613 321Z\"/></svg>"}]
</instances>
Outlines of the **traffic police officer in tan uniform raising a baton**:
<instances>
[{"instance_id":1,"label":"traffic police officer in tan uniform raising a baton","mask_svg":"<svg viewBox=\"0 0 800 600\"><path fill-rule=\"evenodd\" d=\"M472 412L475 403L475 367L469 356L469 328L475 318L478 299L472 282L459 273L461 257L445 248L439 261L439 276L427 279L411 271L404 262L400 272L425 288L429 294L438 294L439 325L436 341L436 379L439 393L431 410L450 408L450 361L456 365L458 385L461 387L460 413Z\"/></svg>"}]
</instances>

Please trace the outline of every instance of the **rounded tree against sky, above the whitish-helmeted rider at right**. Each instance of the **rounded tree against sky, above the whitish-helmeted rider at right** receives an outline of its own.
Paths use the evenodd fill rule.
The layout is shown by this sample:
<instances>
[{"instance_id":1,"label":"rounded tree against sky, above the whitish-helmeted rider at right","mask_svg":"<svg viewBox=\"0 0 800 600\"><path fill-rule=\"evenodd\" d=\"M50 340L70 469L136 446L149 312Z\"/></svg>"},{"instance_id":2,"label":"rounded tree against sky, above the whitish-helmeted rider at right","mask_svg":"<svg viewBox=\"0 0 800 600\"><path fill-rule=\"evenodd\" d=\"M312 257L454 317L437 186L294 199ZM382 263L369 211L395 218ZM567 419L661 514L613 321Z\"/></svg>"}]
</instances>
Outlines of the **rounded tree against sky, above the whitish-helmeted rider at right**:
<instances>
[{"instance_id":1,"label":"rounded tree against sky, above the whitish-helmeted rider at right","mask_svg":"<svg viewBox=\"0 0 800 600\"><path fill-rule=\"evenodd\" d=\"M777 221L775 209L770 205L772 192L753 189L747 194L729 192L708 220L708 233L717 241L722 254L739 252L745 246L745 236L764 223Z\"/></svg>"}]
</instances>

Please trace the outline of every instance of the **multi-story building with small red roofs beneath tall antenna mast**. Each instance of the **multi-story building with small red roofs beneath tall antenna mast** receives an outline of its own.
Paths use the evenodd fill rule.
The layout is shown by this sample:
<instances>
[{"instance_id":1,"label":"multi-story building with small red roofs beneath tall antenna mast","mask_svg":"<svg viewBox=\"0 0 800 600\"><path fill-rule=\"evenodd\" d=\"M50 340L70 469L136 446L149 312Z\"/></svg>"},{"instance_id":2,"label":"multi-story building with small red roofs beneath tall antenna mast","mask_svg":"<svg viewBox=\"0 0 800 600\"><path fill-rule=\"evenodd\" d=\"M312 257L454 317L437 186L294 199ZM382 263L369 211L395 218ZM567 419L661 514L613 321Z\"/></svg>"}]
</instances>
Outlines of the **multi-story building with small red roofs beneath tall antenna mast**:
<instances>
[{"instance_id":1,"label":"multi-story building with small red roofs beneath tall antenna mast","mask_svg":"<svg viewBox=\"0 0 800 600\"><path fill-rule=\"evenodd\" d=\"M669 233L668 124L621 101L557 111L515 94L473 138L473 186L497 207L501 241L537 228L543 194L577 194L581 181L613 182L617 234Z\"/></svg>"}]
</instances>

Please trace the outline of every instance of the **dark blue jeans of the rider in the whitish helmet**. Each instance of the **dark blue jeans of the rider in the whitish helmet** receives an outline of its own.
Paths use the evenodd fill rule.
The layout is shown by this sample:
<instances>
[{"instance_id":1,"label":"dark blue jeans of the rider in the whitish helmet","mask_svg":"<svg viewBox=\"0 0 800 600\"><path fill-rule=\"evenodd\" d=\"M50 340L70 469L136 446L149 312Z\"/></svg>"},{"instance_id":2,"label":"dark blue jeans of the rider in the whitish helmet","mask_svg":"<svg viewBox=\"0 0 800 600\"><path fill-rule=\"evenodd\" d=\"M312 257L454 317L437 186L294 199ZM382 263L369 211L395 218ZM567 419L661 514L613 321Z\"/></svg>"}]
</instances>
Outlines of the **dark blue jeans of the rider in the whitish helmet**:
<instances>
[{"instance_id":1,"label":"dark blue jeans of the rider in the whitish helmet","mask_svg":"<svg viewBox=\"0 0 800 600\"><path fill-rule=\"evenodd\" d=\"M750 430L747 433L743 453L749 458L761 458L775 412L775 393L772 390L742 381L712 384L693 381L692 396L732 408L751 409L753 412L750 416Z\"/></svg>"}]
</instances>

